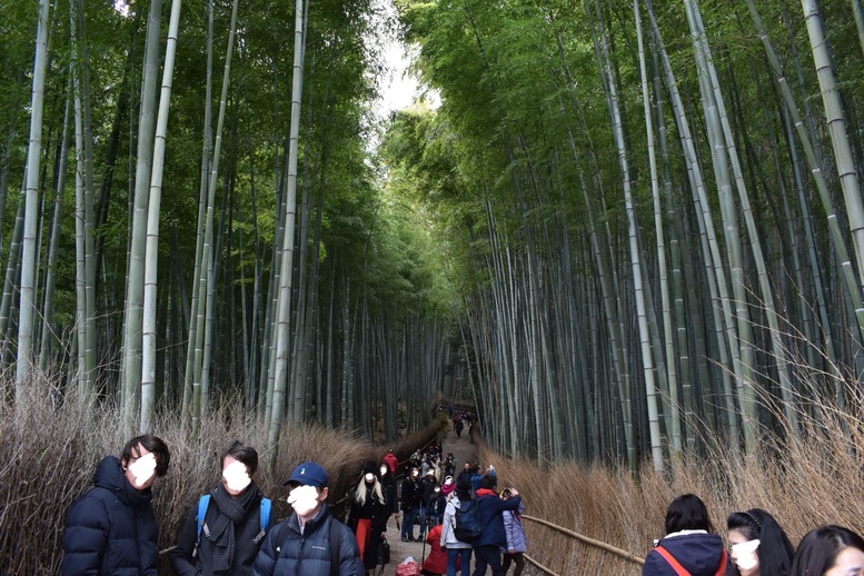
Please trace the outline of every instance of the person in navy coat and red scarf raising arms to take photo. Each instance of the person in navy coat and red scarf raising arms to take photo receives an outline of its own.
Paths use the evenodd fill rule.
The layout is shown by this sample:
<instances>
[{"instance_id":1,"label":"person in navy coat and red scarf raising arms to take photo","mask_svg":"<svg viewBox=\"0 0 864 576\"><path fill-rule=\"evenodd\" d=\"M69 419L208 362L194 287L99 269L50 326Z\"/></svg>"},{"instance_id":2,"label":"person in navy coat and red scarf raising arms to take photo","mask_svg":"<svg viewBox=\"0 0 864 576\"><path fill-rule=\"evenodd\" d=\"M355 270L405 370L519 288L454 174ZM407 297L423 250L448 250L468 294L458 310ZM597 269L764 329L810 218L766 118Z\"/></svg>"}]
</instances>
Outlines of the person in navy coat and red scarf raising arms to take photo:
<instances>
[{"instance_id":1,"label":"person in navy coat and red scarf raising arms to take photo","mask_svg":"<svg viewBox=\"0 0 864 576\"><path fill-rule=\"evenodd\" d=\"M491 568L493 576L503 576L501 548L507 546L507 533L504 530L504 512L517 510L522 504L522 497L516 488L510 488L510 497L506 500L498 497L495 488L498 477L494 474L485 474L477 490L475 506L477 517L484 530L479 538L474 540L474 576L484 576L486 568Z\"/></svg>"}]
</instances>

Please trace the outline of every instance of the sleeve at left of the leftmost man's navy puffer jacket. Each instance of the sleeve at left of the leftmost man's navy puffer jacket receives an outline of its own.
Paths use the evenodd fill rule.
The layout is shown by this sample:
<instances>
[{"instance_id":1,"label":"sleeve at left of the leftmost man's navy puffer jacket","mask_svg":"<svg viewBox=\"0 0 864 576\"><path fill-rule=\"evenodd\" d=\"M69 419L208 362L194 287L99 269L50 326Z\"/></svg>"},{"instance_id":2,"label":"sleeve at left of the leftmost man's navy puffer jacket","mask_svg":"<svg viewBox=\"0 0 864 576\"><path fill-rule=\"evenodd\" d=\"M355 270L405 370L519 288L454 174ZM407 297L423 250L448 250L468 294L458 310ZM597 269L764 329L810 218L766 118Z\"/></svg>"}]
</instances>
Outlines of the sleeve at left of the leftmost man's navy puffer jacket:
<instances>
[{"instance_id":1,"label":"sleeve at left of the leftmost man's navy puffer jacket","mask_svg":"<svg viewBox=\"0 0 864 576\"><path fill-rule=\"evenodd\" d=\"M95 497L85 496L69 508L63 530L62 576L99 574L108 545L108 512Z\"/></svg>"}]
</instances>

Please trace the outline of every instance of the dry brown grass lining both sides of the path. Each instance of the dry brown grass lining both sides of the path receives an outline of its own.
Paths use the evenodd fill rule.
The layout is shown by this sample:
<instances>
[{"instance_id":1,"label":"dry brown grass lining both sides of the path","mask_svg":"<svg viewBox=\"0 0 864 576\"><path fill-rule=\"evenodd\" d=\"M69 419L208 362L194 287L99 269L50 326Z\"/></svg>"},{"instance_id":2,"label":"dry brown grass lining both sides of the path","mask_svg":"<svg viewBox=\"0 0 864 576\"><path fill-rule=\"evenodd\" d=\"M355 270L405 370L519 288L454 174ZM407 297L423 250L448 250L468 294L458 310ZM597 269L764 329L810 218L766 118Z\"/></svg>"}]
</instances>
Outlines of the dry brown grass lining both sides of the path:
<instances>
[{"instance_id":1,"label":"dry brown grass lining both sides of the path","mask_svg":"<svg viewBox=\"0 0 864 576\"><path fill-rule=\"evenodd\" d=\"M9 380L6 380L9 381ZM811 528L836 523L864 532L864 397L847 390L847 408L811 406L802 415L801 436L781 440L764 433L748 458L716 441L707 457L684 457L656 473L646 463L636 481L626 467L564 463L539 469L533 460L507 460L480 445L484 463L498 469L501 486L516 486L526 513L644 556L663 535L666 506L692 491L708 506L723 534L732 510L769 510L797 543ZM48 378L19 399L16 414L0 404L0 574L51 574L59 568L62 526L69 505L87 490L97 463L118 455L126 439L120 417L101 405L63 404ZM818 416L818 419L815 417ZM395 446L405 459L436 438L441 418ZM201 440L192 443L176 413L155 427L171 448L171 469L157 484L155 505L161 548L169 547L198 496L218 480L218 455L230 440L267 445L267 430L231 399L205 418ZM473 430L474 431L474 430ZM477 440L479 441L479 440ZM367 459L378 461L386 447L356 435L318 427L286 427L276 471L259 470L258 484L274 498L278 517L288 515L281 483L308 459L332 475L329 501L338 504L354 486ZM261 459L267 455L261 450ZM339 509L337 506L337 514ZM558 574L639 574L638 565L526 520L529 555ZM530 572L528 572L530 574Z\"/></svg>"}]
</instances>

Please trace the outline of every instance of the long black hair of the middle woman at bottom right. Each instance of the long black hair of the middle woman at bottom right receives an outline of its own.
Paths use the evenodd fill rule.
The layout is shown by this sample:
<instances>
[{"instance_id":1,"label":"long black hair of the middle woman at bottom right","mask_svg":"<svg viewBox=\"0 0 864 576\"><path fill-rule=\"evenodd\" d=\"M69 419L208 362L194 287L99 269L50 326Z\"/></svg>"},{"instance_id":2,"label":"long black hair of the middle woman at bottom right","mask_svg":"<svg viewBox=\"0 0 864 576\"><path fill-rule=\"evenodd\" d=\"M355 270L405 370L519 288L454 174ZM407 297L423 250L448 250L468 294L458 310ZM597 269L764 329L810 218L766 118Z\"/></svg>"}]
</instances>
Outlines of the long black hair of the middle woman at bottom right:
<instances>
[{"instance_id":1,"label":"long black hair of the middle woman at bottom right","mask_svg":"<svg viewBox=\"0 0 864 576\"><path fill-rule=\"evenodd\" d=\"M741 530L748 540L759 540L759 547L756 548L756 555L759 558L759 574L788 575L795 548L774 516L762 508L733 512L726 519L726 527L729 530ZM735 564L731 564L727 574L739 576L741 572Z\"/></svg>"}]
</instances>

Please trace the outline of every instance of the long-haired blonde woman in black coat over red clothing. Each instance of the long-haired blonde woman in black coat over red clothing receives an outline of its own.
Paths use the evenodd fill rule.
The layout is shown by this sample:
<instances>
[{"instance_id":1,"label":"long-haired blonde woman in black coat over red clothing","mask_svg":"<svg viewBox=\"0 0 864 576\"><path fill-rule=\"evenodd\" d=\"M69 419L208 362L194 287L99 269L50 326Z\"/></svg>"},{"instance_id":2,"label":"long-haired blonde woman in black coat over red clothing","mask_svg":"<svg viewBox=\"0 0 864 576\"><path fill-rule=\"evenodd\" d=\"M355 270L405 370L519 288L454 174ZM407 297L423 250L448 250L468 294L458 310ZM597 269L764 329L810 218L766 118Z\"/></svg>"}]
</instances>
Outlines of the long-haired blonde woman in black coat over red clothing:
<instances>
[{"instance_id":1,"label":"long-haired blonde woman in black coat over red clothing","mask_svg":"<svg viewBox=\"0 0 864 576\"><path fill-rule=\"evenodd\" d=\"M389 517L390 507L387 505L381 483L375 475L375 463L367 461L348 514L348 527L357 536L360 558L367 574L378 564L378 546L386 538Z\"/></svg>"}]
</instances>

